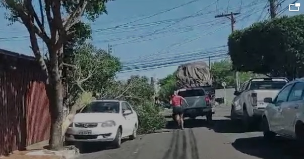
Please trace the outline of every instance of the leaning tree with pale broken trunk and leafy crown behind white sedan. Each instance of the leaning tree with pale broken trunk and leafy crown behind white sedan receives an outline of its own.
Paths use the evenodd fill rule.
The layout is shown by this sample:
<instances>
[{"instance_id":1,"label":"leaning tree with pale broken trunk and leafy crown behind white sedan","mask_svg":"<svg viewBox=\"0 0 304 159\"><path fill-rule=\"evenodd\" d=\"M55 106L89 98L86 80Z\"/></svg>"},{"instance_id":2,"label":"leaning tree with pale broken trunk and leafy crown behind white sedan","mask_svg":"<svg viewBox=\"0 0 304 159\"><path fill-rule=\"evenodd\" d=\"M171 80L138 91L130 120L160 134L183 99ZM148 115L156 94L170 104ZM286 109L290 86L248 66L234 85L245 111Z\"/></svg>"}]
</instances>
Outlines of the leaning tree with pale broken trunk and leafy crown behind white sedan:
<instances>
[{"instance_id":1,"label":"leaning tree with pale broken trunk and leafy crown behind white sedan","mask_svg":"<svg viewBox=\"0 0 304 159\"><path fill-rule=\"evenodd\" d=\"M121 69L118 58L90 43L74 50L66 76L70 113L62 124L62 135L73 122L75 114L96 97L94 94L106 91L112 85L115 73Z\"/></svg>"}]
</instances>

